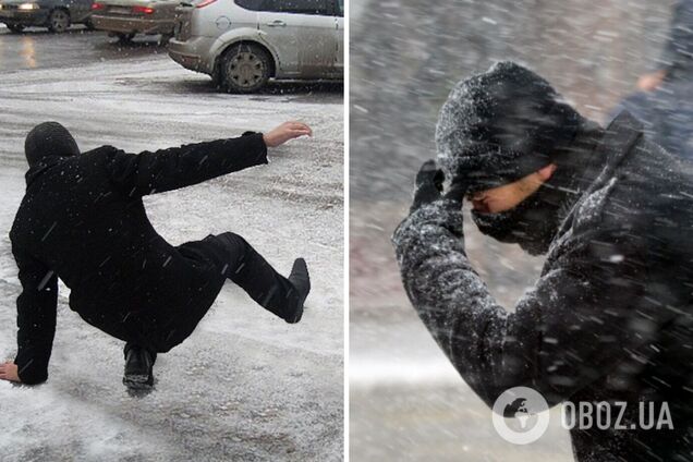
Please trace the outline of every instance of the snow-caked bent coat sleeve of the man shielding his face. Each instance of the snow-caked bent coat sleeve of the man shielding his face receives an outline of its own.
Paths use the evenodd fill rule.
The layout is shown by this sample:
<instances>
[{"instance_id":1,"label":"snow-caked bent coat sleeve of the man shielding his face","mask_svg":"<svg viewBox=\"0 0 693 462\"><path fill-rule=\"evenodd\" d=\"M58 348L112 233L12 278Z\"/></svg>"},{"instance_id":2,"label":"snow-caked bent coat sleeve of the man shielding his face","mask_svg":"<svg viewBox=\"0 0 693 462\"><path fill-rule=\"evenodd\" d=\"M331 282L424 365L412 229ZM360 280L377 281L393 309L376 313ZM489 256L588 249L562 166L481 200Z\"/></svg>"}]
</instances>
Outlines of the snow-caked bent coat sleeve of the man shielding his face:
<instances>
[{"instance_id":1,"label":"snow-caked bent coat sleeve of the man shielding his face","mask_svg":"<svg viewBox=\"0 0 693 462\"><path fill-rule=\"evenodd\" d=\"M645 305L641 296L642 255L629 231L594 224L586 220L554 243L540 279L512 312L494 300L470 265L459 205L425 206L396 231L414 308L489 406L518 386L539 391L554 405L606 375L615 361L646 354L639 349L666 309Z\"/></svg>"}]
</instances>

